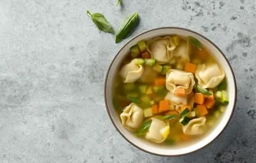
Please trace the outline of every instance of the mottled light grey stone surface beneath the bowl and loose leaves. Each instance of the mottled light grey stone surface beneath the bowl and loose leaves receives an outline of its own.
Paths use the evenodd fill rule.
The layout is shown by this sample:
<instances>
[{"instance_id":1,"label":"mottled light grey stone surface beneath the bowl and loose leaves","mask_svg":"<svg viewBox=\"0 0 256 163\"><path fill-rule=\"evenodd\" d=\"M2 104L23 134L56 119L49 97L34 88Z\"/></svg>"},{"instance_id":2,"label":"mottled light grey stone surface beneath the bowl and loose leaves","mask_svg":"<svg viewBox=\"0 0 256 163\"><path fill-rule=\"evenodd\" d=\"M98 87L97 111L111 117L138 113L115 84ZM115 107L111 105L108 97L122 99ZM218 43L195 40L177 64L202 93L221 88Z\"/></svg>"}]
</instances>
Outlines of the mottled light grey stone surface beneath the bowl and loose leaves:
<instances>
[{"instance_id":1,"label":"mottled light grey stone surface beneath the bowl and loose leaves","mask_svg":"<svg viewBox=\"0 0 256 163\"><path fill-rule=\"evenodd\" d=\"M255 0L0 0L0 162L255 162ZM129 145L111 124L104 76L125 44L99 32L86 10L115 30L134 11L132 33L186 27L225 53L237 105L211 145L184 157L157 157ZM131 38L131 37L130 37Z\"/></svg>"}]
</instances>

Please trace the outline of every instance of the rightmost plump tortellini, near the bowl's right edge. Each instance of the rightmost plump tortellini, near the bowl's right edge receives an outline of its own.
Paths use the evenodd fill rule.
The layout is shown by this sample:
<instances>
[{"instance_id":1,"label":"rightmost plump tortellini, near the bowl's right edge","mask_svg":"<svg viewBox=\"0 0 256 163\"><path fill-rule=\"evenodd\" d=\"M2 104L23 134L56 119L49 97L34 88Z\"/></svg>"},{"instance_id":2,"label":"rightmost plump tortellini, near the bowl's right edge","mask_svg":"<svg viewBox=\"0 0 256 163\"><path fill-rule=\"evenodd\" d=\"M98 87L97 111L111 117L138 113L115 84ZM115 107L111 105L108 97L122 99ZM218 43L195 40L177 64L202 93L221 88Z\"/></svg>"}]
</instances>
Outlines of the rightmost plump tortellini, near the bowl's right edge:
<instances>
[{"instance_id":1,"label":"rightmost plump tortellini, near the bowl's right edge","mask_svg":"<svg viewBox=\"0 0 256 163\"><path fill-rule=\"evenodd\" d=\"M200 64L196 67L195 76L201 87L213 89L221 83L225 73L218 64Z\"/></svg>"}]
</instances>

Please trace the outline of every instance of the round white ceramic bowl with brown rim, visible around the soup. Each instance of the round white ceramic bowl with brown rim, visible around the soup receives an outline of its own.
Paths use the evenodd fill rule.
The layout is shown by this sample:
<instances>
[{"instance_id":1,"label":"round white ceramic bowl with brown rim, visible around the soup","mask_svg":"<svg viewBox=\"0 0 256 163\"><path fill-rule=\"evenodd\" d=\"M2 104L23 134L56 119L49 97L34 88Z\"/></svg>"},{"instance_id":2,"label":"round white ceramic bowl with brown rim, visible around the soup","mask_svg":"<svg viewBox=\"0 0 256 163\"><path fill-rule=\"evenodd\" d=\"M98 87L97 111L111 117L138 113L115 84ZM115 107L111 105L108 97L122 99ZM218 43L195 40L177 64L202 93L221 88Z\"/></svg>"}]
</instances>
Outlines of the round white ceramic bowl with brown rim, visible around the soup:
<instances>
[{"instance_id":1,"label":"round white ceramic bowl with brown rim, visible around the soup","mask_svg":"<svg viewBox=\"0 0 256 163\"><path fill-rule=\"evenodd\" d=\"M119 69L119 66L124 59L127 52L129 52L129 48L132 45L135 45L141 39L149 39L154 38L156 36L164 36L170 34L179 34L180 36L193 36L194 38L198 39L203 45L206 46L207 49L211 50L213 53L213 57L216 59L218 64L220 64L226 74L227 78L227 91L229 96L229 104L227 106L227 110L223 113L223 117L221 118L220 122L216 125L216 127L207 134L203 139L200 141L195 142L192 145L188 146L163 146L158 145L156 143L150 143L147 140L138 138L134 136L131 132L127 131L125 127L122 126L120 116L116 113L112 99L112 90L113 90L113 78L116 75L116 72ZM228 63L227 58L221 52L220 48L218 48L212 41L202 36L202 34L198 34L197 32L191 31L189 29L182 29L179 27L161 27L157 29L152 29L150 31L143 32L135 36L134 38L130 39L116 54L115 58L111 62L108 73L106 75L105 80L105 87L104 87L104 97L105 97L105 104L108 111L109 118L111 119L113 125L116 127L116 130L132 145L136 146L140 150L144 152L151 153L154 155L161 155L161 156L179 156L179 155L186 155L188 153L196 152L204 148L205 146L209 145L214 139L220 136L221 132L227 127L228 122L230 121L235 104L236 104L236 80L234 73L232 71L232 67Z\"/></svg>"}]
</instances>

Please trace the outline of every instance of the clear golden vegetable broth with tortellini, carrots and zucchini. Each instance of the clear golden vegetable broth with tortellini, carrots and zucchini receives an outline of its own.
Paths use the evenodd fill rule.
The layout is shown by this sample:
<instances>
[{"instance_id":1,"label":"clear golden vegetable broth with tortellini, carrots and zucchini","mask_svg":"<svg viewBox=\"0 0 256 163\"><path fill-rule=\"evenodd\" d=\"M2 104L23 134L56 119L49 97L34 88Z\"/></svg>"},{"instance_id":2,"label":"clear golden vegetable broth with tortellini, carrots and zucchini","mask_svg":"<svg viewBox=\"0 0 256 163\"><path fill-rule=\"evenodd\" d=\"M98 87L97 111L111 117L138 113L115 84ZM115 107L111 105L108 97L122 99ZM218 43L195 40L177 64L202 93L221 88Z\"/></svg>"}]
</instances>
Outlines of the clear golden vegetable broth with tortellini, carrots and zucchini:
<instances>
[{"instance_id":1,"label":"clear golden vegetable broth with tortellini, carrots and zucchini","mask_svg":"<svg viewBox=\"0 0 256 163\"><path fill-rule=\"evenodd\" d=\"M139 41L122 61L113 89L125 129L165 145L202 138L228 104L223 68L191 36Z\"/></svg>"}]
</instances>

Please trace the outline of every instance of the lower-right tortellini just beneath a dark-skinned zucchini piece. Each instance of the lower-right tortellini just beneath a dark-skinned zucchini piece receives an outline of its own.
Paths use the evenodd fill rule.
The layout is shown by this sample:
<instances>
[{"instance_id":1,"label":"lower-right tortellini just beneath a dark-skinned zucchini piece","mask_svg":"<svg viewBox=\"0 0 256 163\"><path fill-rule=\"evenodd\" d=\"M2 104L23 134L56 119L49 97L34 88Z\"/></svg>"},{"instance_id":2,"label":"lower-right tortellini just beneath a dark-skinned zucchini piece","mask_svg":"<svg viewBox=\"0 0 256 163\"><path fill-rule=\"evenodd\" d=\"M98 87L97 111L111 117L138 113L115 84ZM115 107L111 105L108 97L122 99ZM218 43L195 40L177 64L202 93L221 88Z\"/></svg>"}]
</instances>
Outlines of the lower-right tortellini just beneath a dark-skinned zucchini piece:
<instances>
[{"instance_id":1,"label":"lower-right tortellini just beneath a dark-skinned zucchini piece","mask_svg":"<svg viewBox=\"0 0 256 163\"><path fill-rule=\"evenodd\" d=\"M205 117L195 118L190 120L188 124L182 126L182 131L187 135L204 134Z\"/></svg>"}]
</instances>

